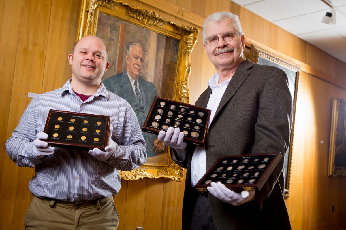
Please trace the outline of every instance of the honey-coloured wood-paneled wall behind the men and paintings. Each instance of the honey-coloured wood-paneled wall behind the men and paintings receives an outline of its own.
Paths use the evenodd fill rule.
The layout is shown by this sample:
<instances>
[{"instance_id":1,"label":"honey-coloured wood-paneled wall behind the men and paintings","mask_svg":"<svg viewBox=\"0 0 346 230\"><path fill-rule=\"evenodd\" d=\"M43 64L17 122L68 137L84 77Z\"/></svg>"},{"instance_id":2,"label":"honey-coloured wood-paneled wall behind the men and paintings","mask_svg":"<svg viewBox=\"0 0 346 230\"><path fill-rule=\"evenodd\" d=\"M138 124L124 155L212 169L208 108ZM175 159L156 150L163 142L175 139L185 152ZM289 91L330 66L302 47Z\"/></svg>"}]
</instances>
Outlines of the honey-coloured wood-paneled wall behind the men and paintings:
<instances>
[{"instance_id":1,"label":"honey-coloured wood-paneled wall behind the men and paintings","mask_svg":"<svg viewBox=\"0 0 346 230\"><path fill-rule=\"evenodd\" d=\"M327 177L331 101L346 99L346 64L229 0L125 0L159 13L179 25L200 29L191 55L190 103L206 89L215 73L203 50L201 26L213 12L240 16L247 46L261 44L302 65L293 136L290 197L286 199L294 230L346 229L345 178ZM28 92L61 87L70 77L67 55L78 27L81 1L2 0L0 61L3 87L0 109L0 226L24 229L31 201L30 168L17 167L4 144L30 102ZM181 9L183 8L183 12ZM248 52L247 52L248 55ZM120 230L178 230L184 182L122 181L115 197ZM334 205L334 213L331 207Z\"/></svg>"}]
</instances>

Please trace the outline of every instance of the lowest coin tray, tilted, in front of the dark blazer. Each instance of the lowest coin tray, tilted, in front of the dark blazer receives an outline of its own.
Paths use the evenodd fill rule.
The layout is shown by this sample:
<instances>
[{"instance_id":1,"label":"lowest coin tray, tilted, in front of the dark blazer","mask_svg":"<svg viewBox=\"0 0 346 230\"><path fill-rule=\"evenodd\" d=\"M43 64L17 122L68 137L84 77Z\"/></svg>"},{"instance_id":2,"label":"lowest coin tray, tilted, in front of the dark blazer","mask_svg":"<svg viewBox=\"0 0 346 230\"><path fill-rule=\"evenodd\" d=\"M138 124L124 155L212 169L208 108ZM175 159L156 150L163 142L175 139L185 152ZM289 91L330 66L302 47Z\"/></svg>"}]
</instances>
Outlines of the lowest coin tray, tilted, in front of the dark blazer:
<instances>
[{"instance_id":1,"label":"lowest coin tray, tilted, in front of the dark blazer","mask_svg":"<svg viewBox=\"0 0 346 230\"><path fill-rule=\"evenodd\" d=\"M211 182L221 182L235 192L259 191L280 158L281 153L222 156L194 188L206 191Z\"/></svg>"}]
</instances>

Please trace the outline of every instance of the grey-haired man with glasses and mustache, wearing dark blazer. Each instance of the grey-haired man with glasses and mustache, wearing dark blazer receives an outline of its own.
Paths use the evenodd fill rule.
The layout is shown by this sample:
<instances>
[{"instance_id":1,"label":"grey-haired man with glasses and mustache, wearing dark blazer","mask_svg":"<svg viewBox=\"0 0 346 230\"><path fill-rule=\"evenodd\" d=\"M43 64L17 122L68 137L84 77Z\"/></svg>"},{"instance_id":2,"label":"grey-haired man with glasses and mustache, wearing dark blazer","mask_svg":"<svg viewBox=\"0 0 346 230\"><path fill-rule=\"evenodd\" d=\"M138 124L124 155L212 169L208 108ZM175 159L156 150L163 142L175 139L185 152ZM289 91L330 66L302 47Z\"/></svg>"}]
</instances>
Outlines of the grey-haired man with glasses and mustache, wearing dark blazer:
<instances>
[{"instance_id":1,"label":"grey-haired man with glasses and mustache, wearing dark blazer","mask_svg":"<svg viewBox=\"0 0 346 230\"><path fill-rule=\"evenodd\" d=\"M210 15L203 41L217 70L195 103L211 109L205 146L184 143L179 128L158 135L172 148L172 160L187 168L182 229L291 229L283 167L293 111L288 78L279 68L244 58L243 30L233 13ZM211 182L208 192L193 189L220 156L273 152L281 152L281 160L259 192L233 192L220 182Z\"/></svg>"}]
</instances>

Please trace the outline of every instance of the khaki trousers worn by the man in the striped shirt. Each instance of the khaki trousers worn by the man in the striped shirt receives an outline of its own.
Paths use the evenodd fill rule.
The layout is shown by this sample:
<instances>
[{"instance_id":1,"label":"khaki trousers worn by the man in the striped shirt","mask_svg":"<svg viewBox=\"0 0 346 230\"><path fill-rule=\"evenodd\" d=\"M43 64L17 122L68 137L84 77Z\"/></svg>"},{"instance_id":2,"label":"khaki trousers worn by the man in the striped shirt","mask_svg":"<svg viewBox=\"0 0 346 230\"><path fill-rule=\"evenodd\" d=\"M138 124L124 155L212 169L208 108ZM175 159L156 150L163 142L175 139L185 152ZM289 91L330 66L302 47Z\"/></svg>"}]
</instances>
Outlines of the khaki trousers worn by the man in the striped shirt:
<instances>
[{"instance_id":1,"label":"khaki trousers worn by the man in the striped shirt","mask_svg":"<svg viewBox=\"0 0 346 230\"><path fill-rule=\"evenodd\" d=\"M118 224L112 197L78 203L34 197L24 220L27 230L115 230Z\"/></svg>"}]
</instances>

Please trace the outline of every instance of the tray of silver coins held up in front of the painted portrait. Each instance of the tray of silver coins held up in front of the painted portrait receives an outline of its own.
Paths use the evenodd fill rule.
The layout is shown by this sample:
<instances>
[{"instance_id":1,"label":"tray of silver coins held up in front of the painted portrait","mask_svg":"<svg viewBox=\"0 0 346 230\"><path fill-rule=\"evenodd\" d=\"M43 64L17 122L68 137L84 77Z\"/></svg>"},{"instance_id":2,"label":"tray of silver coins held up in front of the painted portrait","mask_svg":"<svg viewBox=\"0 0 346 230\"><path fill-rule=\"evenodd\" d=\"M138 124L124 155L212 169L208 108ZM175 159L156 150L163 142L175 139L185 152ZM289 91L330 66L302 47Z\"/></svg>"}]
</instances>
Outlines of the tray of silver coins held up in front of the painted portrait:
<instances>
[{"instance_id":1,"label":"tray of silver coins held up in front of the painted portrait","mask_svg":"<svg viewBox=\"0 0 346 230\"><path fill-rule=\"evenodd\" d=\"M155 97L145 120L143 131L158 134L172 127L184 133L184 142L204 146L210 109Z\"/></svg>"}]
</instances>

